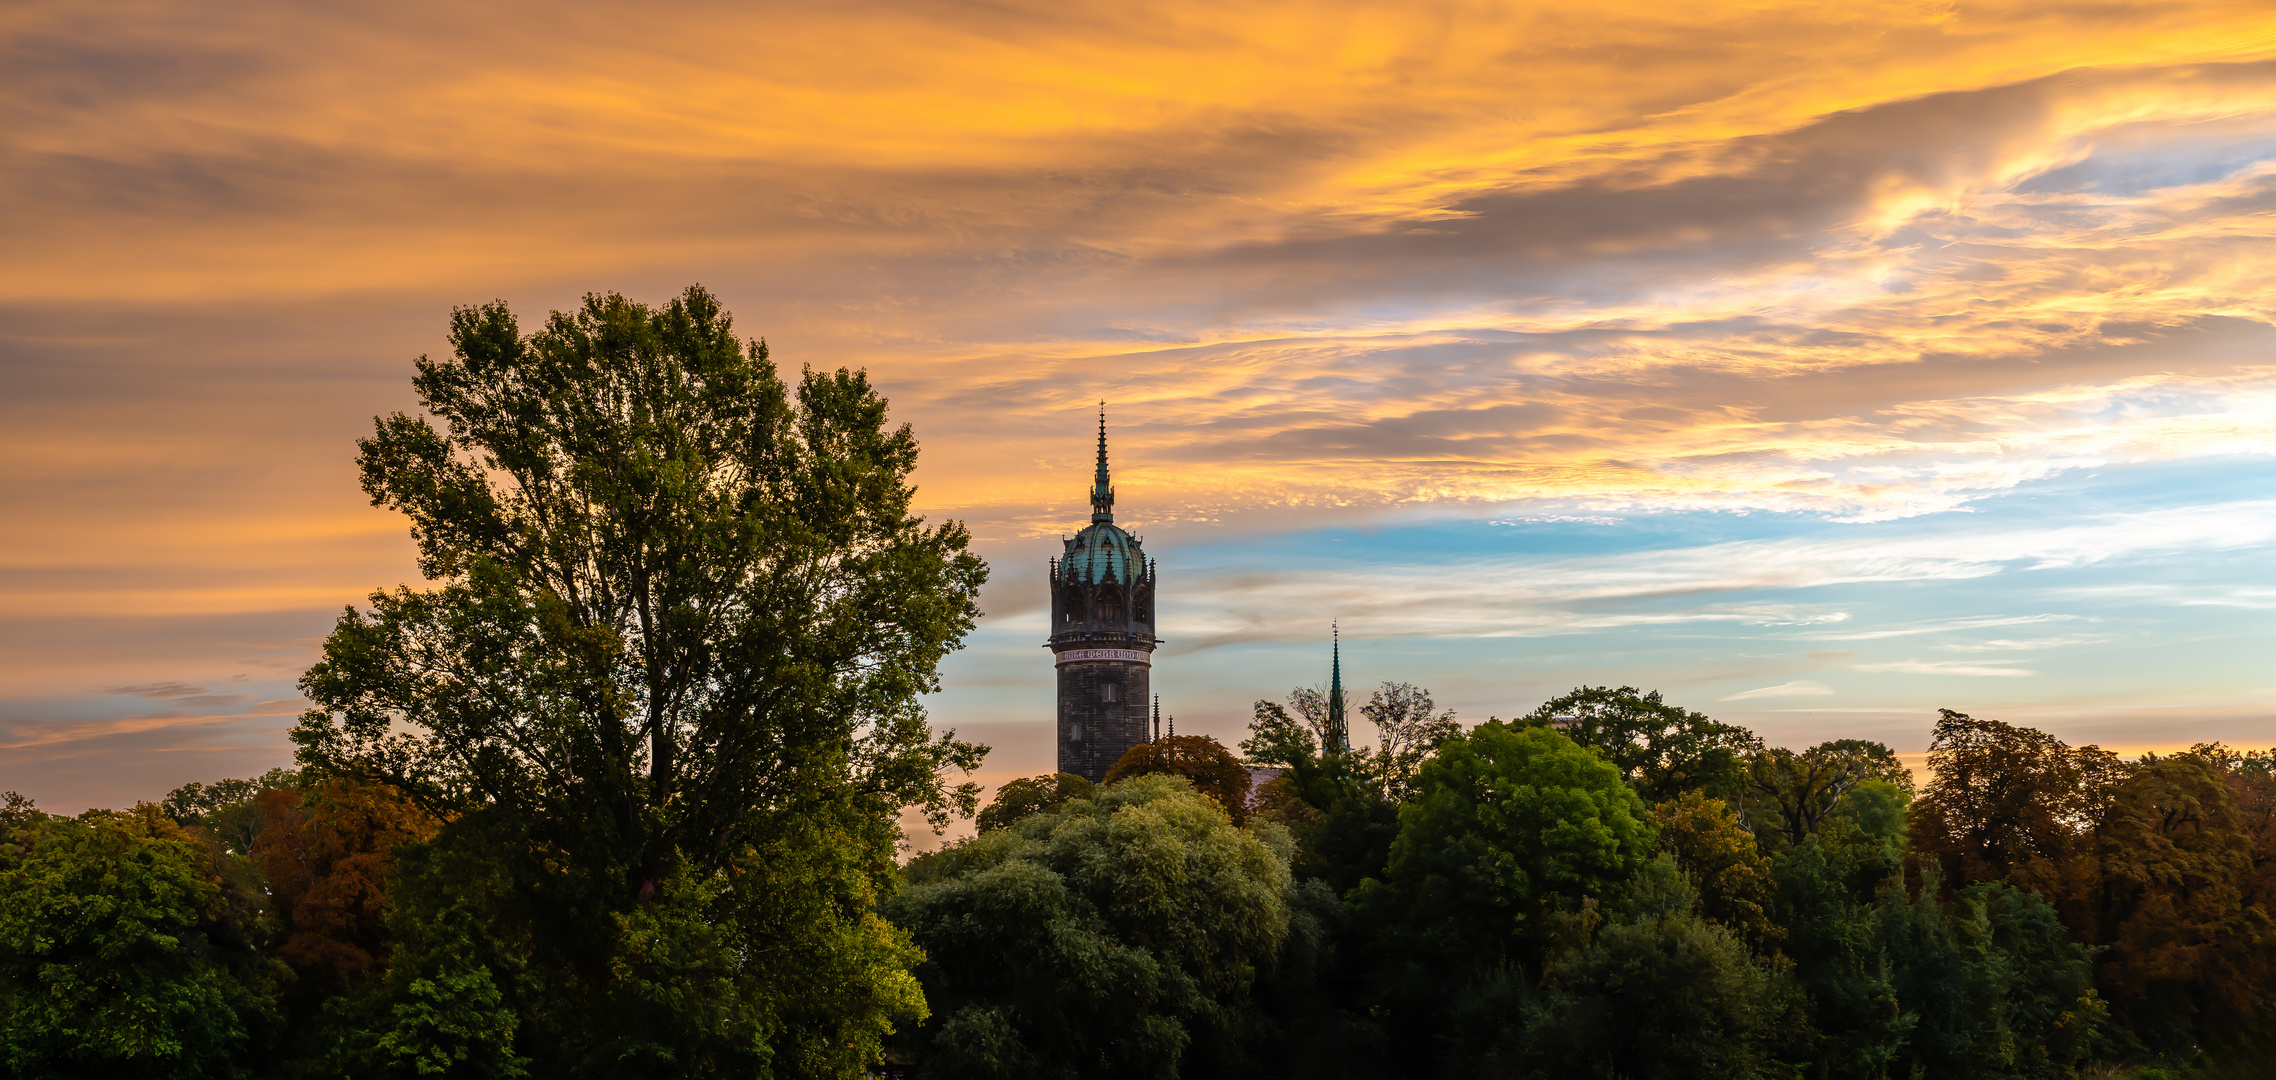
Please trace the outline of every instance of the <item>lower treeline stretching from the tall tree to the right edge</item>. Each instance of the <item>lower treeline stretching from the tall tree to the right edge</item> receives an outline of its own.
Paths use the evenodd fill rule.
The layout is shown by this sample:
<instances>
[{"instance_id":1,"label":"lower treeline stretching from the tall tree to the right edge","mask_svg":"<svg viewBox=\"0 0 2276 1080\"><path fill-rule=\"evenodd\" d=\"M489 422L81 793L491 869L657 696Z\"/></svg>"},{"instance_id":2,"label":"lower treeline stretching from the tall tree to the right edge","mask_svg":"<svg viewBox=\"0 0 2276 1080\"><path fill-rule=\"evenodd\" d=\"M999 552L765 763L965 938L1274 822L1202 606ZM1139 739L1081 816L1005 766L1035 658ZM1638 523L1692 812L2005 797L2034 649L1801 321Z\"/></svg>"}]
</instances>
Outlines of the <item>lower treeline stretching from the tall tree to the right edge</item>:
<instances>
[{"instance_id":1,"label":"lower treeline stretching from the tall tree to the right edge","mask_svg":"<svg viewBox=\"0 0 2276 1080\"><path fill-rule=\"evenodd\" d=\"M885 903L922 1075L2062 1078L2267 1062L2276 771L1944 712L1928 784L1634 689L1343 750L1259 703L1006 784ZM1158 775L1165 773L1165 775ZM1243 782L1227 782L1240 773ZM1193 780L1184 780L1184 778ZM2242 1064L2240 1064L2242 1062Z\"/></svg>"}]
</instances>

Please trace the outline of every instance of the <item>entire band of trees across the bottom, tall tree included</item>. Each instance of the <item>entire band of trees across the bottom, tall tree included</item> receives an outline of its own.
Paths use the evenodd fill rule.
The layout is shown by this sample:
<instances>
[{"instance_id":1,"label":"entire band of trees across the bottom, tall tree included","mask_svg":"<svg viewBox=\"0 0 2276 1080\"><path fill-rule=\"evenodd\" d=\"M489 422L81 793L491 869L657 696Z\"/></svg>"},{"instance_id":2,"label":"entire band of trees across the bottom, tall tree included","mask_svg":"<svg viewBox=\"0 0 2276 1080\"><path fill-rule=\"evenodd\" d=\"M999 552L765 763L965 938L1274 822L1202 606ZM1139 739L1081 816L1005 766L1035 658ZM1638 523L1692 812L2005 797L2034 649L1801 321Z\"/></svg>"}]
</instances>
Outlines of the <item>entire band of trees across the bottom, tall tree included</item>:
<instances>
[{"instance_id":1,"label":"entire band of trees across the bottom, tall tree included","mask_svg":"<svg viewBox=\"0 0 2276 1080\"><path fill-rule=\"evenodd\" d=\"M296 769L0 800L0 1078L2071 1075L2276 1005L2267 753L1944 714L1914 794L1386 684L1375 746L1300 691L979 809L917 698L986 566L860 375L701 289L451 341L360 443L428 587L339 618ZM979 834L899 866L908 807Z\"/></svg>"}]
</instances>

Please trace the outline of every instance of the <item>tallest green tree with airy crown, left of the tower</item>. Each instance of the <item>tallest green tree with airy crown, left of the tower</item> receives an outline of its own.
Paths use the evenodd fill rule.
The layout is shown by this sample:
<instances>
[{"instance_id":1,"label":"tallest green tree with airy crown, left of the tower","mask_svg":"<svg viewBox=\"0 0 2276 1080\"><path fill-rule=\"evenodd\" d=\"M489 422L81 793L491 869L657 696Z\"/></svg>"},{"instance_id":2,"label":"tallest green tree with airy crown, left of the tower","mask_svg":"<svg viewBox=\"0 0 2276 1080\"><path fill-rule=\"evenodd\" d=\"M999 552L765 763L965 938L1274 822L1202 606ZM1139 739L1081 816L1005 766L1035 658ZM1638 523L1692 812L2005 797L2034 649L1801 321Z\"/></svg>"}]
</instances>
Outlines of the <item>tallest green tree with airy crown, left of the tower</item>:
<instances>
[{"instance_id":1,"label":"tallest green tree with airy crown, left of the tower","mask_svg":"<svg viewBox=\"0 0 2276 1080\"><path fill-rule=\"evenodd\" d=\"M917 705L986 568L910 514L915 439L858 373L787 387L703 289L589 296L535 334L469 307L451 343L419 359L426 416L360 443L430 587L339 618L294 730L307 771L453 819L389 916L389 994L412 1016L460 987L512 1023L412 1023L389 1053L519 1030L555 1073L797 1075L874 1048L922 1014L863 914L897 812L970 812L945 773L983 753ZM437 880L460 871L487 884ZM851 1005L806 1023L817 971Z\"/></svg>"}]
</instances>

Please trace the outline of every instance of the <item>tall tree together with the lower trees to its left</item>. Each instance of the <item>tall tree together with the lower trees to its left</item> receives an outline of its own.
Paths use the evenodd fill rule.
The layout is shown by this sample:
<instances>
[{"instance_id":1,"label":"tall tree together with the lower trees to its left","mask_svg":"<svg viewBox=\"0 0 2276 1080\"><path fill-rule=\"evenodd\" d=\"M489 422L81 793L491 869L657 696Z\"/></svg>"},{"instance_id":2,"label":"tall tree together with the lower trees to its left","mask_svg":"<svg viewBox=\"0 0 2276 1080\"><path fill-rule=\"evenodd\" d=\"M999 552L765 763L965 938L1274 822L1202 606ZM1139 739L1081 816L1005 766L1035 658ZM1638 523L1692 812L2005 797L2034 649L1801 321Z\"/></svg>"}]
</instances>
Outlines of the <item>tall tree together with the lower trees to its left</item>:
<instances>
[{"instance_id":1,"label":"tall tree together with the lower trees to its left","mask_svg":"<svg viewBox=\"0 0 2276 1080\"><path fill-rule=\"evenodd\" d=\"M0 1073L858 1075L924 1021L879 900L976 807L917 698L986 566L910 432L701 289L451 343L360 443L428 582L339 618L298 771L9 803Z\"/></svg>"}]
</instances>

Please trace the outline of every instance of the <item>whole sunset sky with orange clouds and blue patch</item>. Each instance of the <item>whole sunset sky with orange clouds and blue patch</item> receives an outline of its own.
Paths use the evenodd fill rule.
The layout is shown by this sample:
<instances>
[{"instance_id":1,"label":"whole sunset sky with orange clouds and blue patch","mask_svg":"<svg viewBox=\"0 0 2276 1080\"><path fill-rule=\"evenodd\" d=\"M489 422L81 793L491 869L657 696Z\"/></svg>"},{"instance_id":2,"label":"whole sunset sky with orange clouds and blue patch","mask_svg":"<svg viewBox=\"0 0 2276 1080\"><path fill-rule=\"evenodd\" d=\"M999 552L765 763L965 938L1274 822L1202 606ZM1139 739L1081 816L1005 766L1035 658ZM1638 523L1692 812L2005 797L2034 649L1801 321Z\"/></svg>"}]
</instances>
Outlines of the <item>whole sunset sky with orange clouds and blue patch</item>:
<instances>
[{"instance_id":1,"label":"whole sunset sky with orange clouds and blue patch","mask_svg":"<svg viewBox=\"0 0 2276 1080\"><path fill-rule=\"evenodd\" d=\"M1181 732L1341 621L1466 721L2271 746L2271 241L2265 0L18 0L0 789L289 764L451 307L694 282L915 427L990 784L1099 400Z\"/></svg>"}]
</instances>

